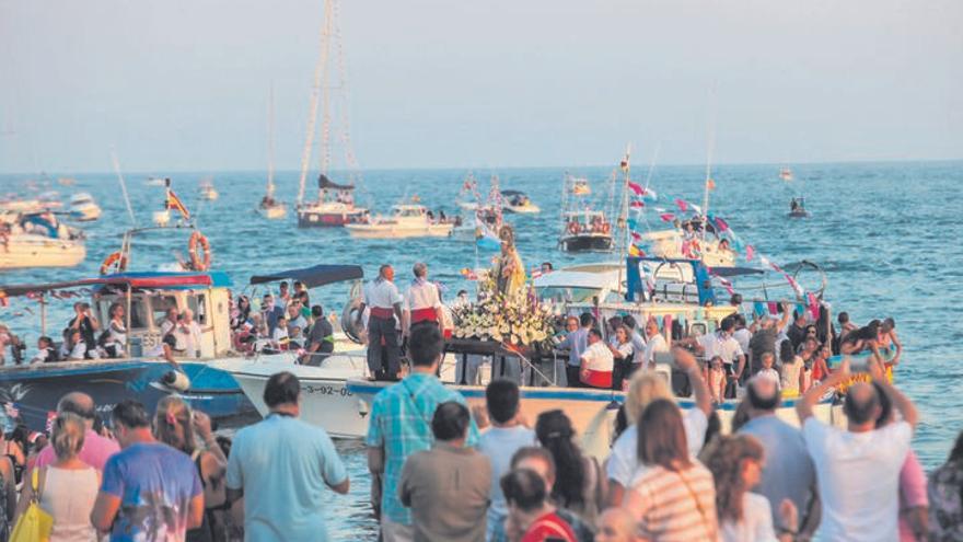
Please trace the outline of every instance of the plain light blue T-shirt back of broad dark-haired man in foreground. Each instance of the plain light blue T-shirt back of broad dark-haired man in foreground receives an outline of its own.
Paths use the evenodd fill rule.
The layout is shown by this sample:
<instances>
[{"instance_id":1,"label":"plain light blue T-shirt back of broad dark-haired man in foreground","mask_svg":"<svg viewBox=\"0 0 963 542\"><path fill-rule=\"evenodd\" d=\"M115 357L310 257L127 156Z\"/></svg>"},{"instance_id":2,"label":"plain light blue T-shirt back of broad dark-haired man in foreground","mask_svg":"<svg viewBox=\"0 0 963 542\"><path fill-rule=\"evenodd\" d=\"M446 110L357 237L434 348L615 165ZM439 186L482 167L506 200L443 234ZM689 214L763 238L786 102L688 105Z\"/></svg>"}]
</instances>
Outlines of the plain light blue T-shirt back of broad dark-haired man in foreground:
<instances>
[{"instance_id":1,"label":"plain light blue T-shirt back of broad dark-haired man in foreground","mask_svg":"<svg viewBox=\"0 0 963 542\"><path fill-rule=\"evenodd\" d=\"M334 442L320 427L271 414L237 431L228 486L244 487L247 540L326 540L326 485L347 478Z\"/></svg>"}]
</instances>

